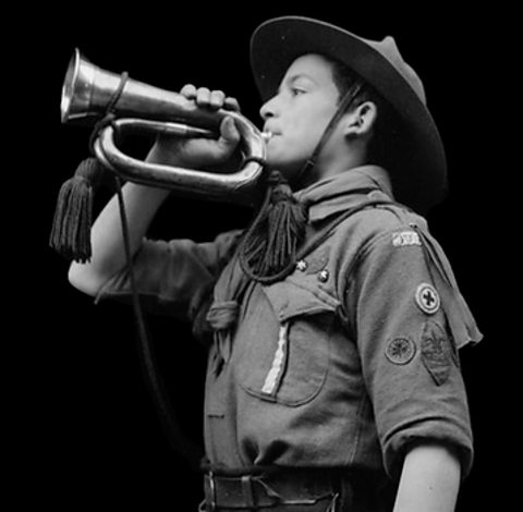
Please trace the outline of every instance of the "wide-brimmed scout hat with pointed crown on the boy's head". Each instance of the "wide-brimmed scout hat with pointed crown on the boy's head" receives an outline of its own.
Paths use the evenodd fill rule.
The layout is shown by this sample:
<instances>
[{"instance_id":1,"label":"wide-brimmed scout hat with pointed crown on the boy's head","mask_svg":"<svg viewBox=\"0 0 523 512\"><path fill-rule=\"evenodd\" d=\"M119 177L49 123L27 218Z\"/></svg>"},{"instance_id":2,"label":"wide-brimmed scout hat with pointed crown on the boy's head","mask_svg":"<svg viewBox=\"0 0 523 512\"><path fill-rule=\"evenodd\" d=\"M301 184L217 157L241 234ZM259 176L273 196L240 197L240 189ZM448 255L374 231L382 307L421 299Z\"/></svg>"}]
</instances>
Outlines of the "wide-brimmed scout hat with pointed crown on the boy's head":
<instances>
[{"instance_id":1,"label":"wide-brimmed scout hat with pointed crown on the boy's head","mask_svg":"<svg viewBox=\"0 0 523 512\"><path fill-rule=\"evenodd\" d=\"M443 145L427 109L423 83L402 59L394 39L364 39L303 16L269 20L251 39L251 65L264 101L276 94L289 65L305 53L323 53L345 63L402 118L409 143L397 168L389 169L397 199L421 212L440 203L447 192Z\"/></svg>"}]
</instances>

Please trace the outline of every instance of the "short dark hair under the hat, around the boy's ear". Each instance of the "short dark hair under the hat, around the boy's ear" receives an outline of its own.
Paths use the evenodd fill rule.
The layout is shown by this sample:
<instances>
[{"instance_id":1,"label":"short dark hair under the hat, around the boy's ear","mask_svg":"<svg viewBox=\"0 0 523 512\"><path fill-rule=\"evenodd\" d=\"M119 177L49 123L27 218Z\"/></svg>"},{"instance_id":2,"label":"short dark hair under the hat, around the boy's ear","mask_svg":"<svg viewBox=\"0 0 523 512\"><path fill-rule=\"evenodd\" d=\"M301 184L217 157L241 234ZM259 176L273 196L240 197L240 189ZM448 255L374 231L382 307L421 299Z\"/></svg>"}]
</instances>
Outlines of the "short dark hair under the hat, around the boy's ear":
<instances>
[{"instance_id":1,"label":"short dark hair under the hat, around the boy's ear","mask_svg":"<svg viewBox=\"0 0 523 512\"><path fill-rule=\"evenodd\" d=\"M372 101L377 108L377 118L374 125L374 134L368 146L369 163L376 163L393 172L398 166L399 156L402 153L405 137L399 114L392 106L368 83L363 81L351 68L328 56L324 58L332 64L332 78L340 93L339 101L356 85L363 82L363 87L349 106L352 110L365 101Z\"/></svg>"}]
</instances>

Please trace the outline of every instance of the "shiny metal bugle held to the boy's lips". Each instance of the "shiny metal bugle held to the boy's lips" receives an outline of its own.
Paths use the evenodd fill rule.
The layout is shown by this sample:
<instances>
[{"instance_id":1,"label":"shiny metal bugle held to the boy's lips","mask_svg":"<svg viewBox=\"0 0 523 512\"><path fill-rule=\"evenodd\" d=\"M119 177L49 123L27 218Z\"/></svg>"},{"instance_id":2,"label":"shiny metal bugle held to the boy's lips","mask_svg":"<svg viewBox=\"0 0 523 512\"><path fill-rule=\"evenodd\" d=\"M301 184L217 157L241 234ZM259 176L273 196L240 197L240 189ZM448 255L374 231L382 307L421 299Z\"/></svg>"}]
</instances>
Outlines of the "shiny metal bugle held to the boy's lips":
<instances>
[{"instance_id":1,"label":"shiny metal bugle held to the boy's lips","mask_svg":"<svg viewBox=\"0 0 523 512\"><path fill-rule=\"evenodd\" d=\"M263 174L265 141L260 131L238 112L198 108L184 96L102 70L75 49L61 97L62 123L97 121L108 108L115 119L94 143L97 158L123 179L207 199L252 204ZM234 172L215 173L148 163L122 153L115 132L136 129L182 137L216 137L221 120L234 119L241 135L244 164Z\"/></svg>"}]
</instances>

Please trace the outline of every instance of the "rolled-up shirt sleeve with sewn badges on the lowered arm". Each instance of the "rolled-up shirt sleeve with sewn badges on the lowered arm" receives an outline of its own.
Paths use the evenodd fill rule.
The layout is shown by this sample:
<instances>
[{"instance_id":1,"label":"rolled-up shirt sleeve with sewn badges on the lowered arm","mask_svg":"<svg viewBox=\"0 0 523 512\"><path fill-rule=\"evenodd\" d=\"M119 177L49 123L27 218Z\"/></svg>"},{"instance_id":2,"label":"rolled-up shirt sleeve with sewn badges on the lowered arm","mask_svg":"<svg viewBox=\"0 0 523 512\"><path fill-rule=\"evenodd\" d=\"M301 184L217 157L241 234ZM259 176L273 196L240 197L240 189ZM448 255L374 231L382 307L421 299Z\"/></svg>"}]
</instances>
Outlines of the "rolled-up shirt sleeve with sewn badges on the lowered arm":
<instances>
[{"instance_id":1,"label":"rolled-up shirt sleeve with sewn badges on the lowered arm","mask_svg":"<svg viewBox=\"0 0 523 512\"><path fill-rule=\"evenodd\" d=\"M405 451L453 447L470 472L473 437L446 293L414 232L381 233L362 252L352 303L365 385L384 464L397 476Z\"/></svg>"}]
</instances>

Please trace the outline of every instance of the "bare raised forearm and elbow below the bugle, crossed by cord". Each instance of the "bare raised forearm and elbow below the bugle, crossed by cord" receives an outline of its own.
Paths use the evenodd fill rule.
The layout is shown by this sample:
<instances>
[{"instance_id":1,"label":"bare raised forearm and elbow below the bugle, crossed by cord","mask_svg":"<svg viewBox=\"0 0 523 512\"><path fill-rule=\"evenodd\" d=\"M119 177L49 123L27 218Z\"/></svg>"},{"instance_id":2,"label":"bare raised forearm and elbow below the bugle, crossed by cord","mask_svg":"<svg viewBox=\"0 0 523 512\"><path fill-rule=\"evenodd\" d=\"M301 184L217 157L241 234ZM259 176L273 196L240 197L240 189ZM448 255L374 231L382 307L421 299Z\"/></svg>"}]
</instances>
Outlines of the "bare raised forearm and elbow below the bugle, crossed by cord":
<instances>
[{"instance_id":1,"label":"bare raised forearm and elbow below the bugle, crossed by cord","mask_svg":"<svg viewBox=\"0 0 523 512\"><path fill-rule=\"evenodd\" d=\"M156 146L147 161L161 161ZM147 230L169 191L151 186L125 183L122 187L131 254L139 248ZM93 224L92 258L85 264L73 263L69 271L70 282L78 290L95 295L99 287L126 264L122 220L118 196L114 195Z\"/></svg>"}]
</instances>

